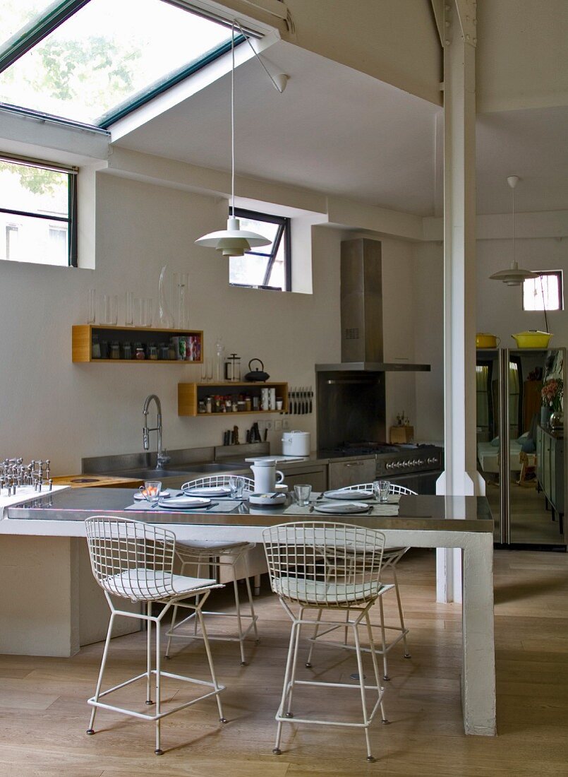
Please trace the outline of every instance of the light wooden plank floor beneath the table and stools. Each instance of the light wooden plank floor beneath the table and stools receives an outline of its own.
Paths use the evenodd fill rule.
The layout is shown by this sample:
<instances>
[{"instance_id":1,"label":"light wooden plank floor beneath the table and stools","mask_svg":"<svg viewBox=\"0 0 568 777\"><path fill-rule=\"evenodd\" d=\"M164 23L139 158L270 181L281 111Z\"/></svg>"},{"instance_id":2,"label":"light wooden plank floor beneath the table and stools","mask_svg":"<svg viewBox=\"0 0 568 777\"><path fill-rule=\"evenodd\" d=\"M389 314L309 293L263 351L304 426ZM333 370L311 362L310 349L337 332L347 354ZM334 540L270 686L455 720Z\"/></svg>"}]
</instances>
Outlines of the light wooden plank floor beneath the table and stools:
<instances>
[{"instance_id":1,"label":"light wooden plank floor beneath the table and stools","mask_svg":"<svg viewBox=\"0 0 568 777\"><path fill-rule=\"evenodd\" d=\"M289 634L275 598L257 600L261 644L241 667L237 645L213 645L230 722L217 722L206 700L162 723L165 754L153 753L153 726L99 710L87 737L102 645L71 659L0 657L2 777L355 777L355 775L568 775L568 556L496 552L498 737L466 737L459 702L460 612L435 604L435 555L415 550L400 564L412 658L395 649L385 694L390 725L372 728L375 764L365 761L361 731L286 725L282 755L272 755L274 713ZM392 607L387 609L392 613ZM181 646L180 646L181 647ZM144 634L114 640L109 683L143 671ZM320 646L317 676L344 680L352 653ZM170 671L206 677L203 645L185 647ZM303 668L303 674L308 670ZM175 700L185 688L166 686ZM356 713L356 692L303 695L302 712ZM123 692L140 700L144 688Z\"/></svg>"}]
</instances>

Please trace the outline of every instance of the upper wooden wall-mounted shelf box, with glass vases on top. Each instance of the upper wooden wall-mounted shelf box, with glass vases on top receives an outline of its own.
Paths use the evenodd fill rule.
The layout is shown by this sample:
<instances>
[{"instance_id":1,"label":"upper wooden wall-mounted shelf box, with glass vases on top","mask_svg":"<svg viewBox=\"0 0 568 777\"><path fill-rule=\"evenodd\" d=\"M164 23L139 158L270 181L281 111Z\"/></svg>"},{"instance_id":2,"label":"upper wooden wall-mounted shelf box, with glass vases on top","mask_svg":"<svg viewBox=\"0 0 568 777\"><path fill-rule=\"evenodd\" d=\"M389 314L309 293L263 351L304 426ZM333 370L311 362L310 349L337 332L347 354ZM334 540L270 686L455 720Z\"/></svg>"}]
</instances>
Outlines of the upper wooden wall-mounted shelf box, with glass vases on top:
<instances>
[{"instance_id":1,"label":"upper wooden wall-mounted shelf box, with glass vases on top","mask_svg":"<svg viewBox=\"0 0 568 777\"><path fill-rule=\"evenodd\" d=\"M145 343L159 346L169 343L171 337L192 336L199 338L199 359L99 359L92 357L92 340L96 336L99 344L103 340L122 343ZM132 349L133 355L134 350ZM137 326L107 326L106 324L80 324L73 327L72 361L74 362L112 362L113 364L202 364L203 362L203 330L200 329L157 329L154 327Z\"/></svg>"}]
</instances>

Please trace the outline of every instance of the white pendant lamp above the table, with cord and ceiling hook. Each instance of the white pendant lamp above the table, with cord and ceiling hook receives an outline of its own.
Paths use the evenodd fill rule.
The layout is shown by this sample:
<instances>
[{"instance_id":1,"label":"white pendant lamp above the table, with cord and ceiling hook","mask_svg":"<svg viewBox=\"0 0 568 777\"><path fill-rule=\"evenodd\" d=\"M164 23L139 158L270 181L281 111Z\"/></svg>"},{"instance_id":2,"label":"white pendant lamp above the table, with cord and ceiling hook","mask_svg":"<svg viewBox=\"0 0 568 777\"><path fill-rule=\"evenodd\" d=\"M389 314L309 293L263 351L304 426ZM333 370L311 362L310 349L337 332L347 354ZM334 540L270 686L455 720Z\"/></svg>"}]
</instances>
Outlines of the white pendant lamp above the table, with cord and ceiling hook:
<instances>
[{"instance_id":1,"label":"white pendant lamp above the table, with cord and ceiling hook","mask_svg":"<svg viewBox=\"0 0 568 777\"><path fill-rule=\"evenodd\" d=\"M241 222L234 215L234 30L235 26L241 30L241 34L247 40L248 45L265 69L268 78L272 81L276 91L282 93L286 89L286 82L288 76L282 74L272 77L268 72L265 64L261 61L261 58L255 51L255 47L248 40L248 37L242 30L241 25L235 20L231 25L231 40L230 40L230 54L231 54L231 68L230 68L230 209L229 217L227 218L227 229L221 229L219 232L210 232L209 235L203 235L203 237L196 240L196 246L204 246L205 248L214 248L220 252L222 256L243 256L244 253L250 251L251 248L258 248L258 246L268 246L271 242L264 235L258 235L256 232L248 232L241 229Z\"/></svg>"}]
</instances>

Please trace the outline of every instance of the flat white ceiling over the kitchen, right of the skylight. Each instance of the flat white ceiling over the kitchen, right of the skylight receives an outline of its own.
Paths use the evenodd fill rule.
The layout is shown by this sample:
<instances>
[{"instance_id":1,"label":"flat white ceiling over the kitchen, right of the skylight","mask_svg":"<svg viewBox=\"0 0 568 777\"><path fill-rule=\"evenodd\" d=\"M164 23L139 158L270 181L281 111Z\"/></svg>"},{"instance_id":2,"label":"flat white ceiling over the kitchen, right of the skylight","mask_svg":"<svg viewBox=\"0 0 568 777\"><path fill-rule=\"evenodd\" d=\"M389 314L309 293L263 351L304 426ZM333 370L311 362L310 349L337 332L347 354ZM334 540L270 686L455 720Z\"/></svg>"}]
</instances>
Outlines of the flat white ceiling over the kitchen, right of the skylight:
<instances>
[{"instance_id":1,"label":"flat white ceiling over the kitchen, right of the skylight","mask_svg":"<svg viewBox=\"0 0 568 777\"><path fill-rule=\"evenodd\" d=\"M290 80L280 95L255 59L238 68L237 175L423 216L441 212L439 107L282 41L265 60ZM229 90L226 76L117 145L230 169ZM485 114L477 124L478 212L510 210L513 174L522 182L518 211L568 209L568 108Z\"/></svg>"}]
</instances>

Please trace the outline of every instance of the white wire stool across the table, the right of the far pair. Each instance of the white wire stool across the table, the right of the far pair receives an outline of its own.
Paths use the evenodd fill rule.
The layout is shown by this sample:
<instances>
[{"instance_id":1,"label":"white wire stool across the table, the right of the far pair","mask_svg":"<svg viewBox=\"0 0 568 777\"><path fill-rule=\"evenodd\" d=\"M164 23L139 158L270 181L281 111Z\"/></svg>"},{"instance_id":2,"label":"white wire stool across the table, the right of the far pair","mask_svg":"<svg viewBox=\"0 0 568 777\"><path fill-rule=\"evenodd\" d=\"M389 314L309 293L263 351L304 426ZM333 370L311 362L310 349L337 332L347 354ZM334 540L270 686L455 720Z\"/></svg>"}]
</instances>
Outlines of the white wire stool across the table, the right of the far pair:
<instances>
[{"instance_id":1,"label":"white wire stool across the table, the right of the far pair","mask_svg":"<svg viewBox=\"0 0 568 777\"><path fill-rule=\"evenodd\" d=\"M356 491L356 490L368 490L372 491L372 483L358 483L356 486L345 486L344 488L339 489L340 491ZM397 494L397 495L405 495L405 496L417 496L416 491L412 491L409 488L406 488L405 486L398 486L397 483L391 483L389 493ZM379 617L380 622L379 624L372 624L373 627L380 629L381 633L381 645L375 646L376 653L379 654L379 656L383 656L383 680L390 680L389 676L389 669L388 669L388 660L387 660L387 654L390 652L390 650L393 649L395 645L397 645L401 640L403 643L403 657L404 658L410 658L410 653L408 652L408 643L407 643L407 633L408 629L406 625L404 625L404 616L403 616L403 608L402 608L402 601L400 599L400 590L398 587L398 578L397 578L397 563L399 563L400 559L404 556L404 554L409 550L409 547L406 548L385 548L383 552L383 570L390 569L393 573L393 586L388 587L389 591L394 590L395 594L397 595L397 605L398 605L398 614L400 618L400 626L394 626L394 625L386 625L385 624L385 615L384 615L384 608L383 608L383 598L379 597ZM386 593L386 591L385 591ZM320 632L319 627L316 627L313 636L310 639L310 651L308 653L306 665L307 667L311 666L312 661L312 655L313 655L313 646L316 643L316 640L318 642L325 642L326 644L332 644L332 645L338 645L341 644L342 647L348 648L349 650L354 650L353 645L348 644L348 629L345 629L344 631L344 640L343 643L337 643L337 642L326 642L326 640L321 639L322 636L325 636L327 633L331 632L334 629L326 629L324 632ZM387 642L386 640L386 631L395 631L398 632L397 636L392 639L390 642ZM364 652L369 651L369 648L362 647L361 650Z\"/></svg>"}]
</instances>

